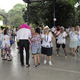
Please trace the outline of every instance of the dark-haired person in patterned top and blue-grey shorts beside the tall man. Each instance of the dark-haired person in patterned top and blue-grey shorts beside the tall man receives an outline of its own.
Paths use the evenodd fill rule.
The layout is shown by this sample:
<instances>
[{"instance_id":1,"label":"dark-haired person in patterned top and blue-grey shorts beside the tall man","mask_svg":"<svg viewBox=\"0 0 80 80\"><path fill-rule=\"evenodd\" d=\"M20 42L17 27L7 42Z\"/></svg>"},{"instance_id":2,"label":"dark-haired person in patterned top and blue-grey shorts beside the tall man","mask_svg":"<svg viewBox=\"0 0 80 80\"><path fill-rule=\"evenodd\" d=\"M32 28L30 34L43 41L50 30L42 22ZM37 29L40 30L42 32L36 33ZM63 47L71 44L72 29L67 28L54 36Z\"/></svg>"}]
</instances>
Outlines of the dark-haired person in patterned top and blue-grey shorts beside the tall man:
<instances>
[{"instance_id":1,"label":"dark-haired person in patterned top and blue-grey shorts beside the tall man","mask_svg":"<svg viewBox=\"0 0 80 80\"><path fill-rule=\"evenodd\" d=\"M41 50L41 36L39 28L35 30L35 34L33 35L31 41L32 41L32 54L34 55L34 63L35 67L37 67L38 65L40 65L39 53ZM37 64L37 59L38 59L38 64Z\"/></svg>"}]
</instances>

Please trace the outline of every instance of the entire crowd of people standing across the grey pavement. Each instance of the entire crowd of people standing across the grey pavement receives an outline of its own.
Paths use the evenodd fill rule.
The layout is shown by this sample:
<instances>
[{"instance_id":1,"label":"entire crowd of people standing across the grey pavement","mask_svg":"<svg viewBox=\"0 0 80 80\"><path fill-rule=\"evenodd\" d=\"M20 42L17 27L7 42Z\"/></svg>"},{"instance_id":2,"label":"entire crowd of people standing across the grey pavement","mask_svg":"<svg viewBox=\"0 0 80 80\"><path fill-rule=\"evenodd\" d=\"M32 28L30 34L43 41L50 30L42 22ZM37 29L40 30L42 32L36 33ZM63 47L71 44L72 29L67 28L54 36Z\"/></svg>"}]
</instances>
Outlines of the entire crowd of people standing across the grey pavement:
<instances>
[{"instance_id":1,"label":"entire crowd of people standing across the grey pavement","mask_svg":"<svg viewBox=\"0 0 80 80\"><path fill-rule=\"evenodd\" d=\"M20 53L20 62L21 66L24 66L24 54L23 50L26 51L26 67L30 67L29 64L29 50L31 48L32 55L34 57L34 67L40 65L40 53L44 55L44 64L47 64L46 57L49 58L49 65L52 65L51 56L53 54L53 42L56 43L57 56L59 56L60 46L62 46L65 58L67 58L66 51L66 41L69 38L69 48L70 54L75 56L75 53L78 52L80 47L80 27L69 27L65 29L64 27L55 27L50 29L48 26L33 28L30 24L29 26L24 23L17 28L17 31L14 33L13 29L2 29L0 31L0 49L1 56L5 60L5 55L8 56L8 60L11 61L11 43L14 43L14 38L16 36L18 50ZM13 34L14 33L14 34ZM11 45L10 45L11 44ZM30 47L31 45L31 47ZM3 52L4 51L4 52Z\"/></svg>"}]
</instances>

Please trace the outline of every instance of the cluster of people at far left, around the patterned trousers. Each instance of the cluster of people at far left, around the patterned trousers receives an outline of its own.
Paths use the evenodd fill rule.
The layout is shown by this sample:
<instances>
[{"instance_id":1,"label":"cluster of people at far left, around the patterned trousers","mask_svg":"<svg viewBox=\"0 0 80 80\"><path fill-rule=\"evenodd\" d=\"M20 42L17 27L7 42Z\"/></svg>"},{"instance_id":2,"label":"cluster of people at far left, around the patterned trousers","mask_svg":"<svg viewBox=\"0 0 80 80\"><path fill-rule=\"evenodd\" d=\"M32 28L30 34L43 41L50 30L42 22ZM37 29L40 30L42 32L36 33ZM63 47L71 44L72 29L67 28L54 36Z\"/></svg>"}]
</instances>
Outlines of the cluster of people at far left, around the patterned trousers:
<instances>
[{"instance_id":1,"label":"cluster of people at far left, around the patterned trousers","mask_svg":"<svg viewBox=\"0 0 80 80\"><path fill-rule=\"evenodd\" d=\"M1 26L0 30L0 49L1 57L3 60L11 61L11 46L14 44L14 27L9 29L8 27Z\"/></svg>"}]
</instances>

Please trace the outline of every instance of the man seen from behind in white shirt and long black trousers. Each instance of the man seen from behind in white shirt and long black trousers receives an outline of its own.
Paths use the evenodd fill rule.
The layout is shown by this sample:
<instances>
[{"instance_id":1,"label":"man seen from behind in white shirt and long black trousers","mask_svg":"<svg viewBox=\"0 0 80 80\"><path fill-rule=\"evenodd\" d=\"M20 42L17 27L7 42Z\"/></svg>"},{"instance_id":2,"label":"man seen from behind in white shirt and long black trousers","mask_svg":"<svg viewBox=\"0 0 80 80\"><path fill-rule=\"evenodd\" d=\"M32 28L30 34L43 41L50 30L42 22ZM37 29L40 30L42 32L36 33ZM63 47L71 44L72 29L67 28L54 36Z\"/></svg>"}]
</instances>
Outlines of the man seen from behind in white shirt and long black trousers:
<instances>
[{"instance_id":1,"label":"man seen from behind in white shirt and long black trousers","mask_svg":"<svg viewBox=\"0 0 80 80\"><path fill-rule=\"evenodd\" d=\"M23 27L17 32L17 38L19 40L20 45L20 61L21 65L24 66L24 56L23 56L23 48L26 50L26 67L29 65L29 38L31 38L31 31Z\"/></svg>"}]
</instances>

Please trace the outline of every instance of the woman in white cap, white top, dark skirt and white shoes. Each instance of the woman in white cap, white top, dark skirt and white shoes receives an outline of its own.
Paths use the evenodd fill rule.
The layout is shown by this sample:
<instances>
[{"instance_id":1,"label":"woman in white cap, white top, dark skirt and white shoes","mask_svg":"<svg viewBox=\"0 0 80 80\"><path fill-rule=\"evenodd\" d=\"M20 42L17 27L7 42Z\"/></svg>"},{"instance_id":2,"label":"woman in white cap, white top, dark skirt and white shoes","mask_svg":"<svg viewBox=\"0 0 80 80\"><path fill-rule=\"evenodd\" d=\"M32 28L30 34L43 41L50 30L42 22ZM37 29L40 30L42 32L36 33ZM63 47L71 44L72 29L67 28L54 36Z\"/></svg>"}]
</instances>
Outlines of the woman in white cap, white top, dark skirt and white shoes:
<instances>
[{"instance_id":1,"label":"woman in white cap, white top, dark skirt and white shoes","mask_svg":"<svg viewBox=\"0 0 80 80\"><path fill-rule=\"evenodd\" d=\"M42 35L42 54L44 54L44 64L46 64L46 56L49 56L49 65L52 65L51 55L54 36L49 32L49 27L44 28L44 34Z\"/></svg>"}]
</instances>

